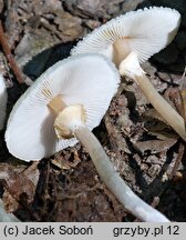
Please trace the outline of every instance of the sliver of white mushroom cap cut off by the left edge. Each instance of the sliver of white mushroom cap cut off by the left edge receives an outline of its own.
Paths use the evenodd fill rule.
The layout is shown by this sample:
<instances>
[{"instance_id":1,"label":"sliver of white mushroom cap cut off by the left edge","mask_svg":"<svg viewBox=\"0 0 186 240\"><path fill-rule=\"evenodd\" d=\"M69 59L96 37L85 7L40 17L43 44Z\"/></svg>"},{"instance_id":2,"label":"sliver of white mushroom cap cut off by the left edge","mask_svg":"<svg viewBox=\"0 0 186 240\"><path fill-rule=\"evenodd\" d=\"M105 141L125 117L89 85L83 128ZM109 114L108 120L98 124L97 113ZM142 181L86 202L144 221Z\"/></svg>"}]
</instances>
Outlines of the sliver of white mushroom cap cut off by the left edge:
<instances>
[{"instance_id":1,"label":"sliver of white mushroom cap cut off by the left edge","mask_svg":"<svg viewBox=\"0 0 186 240\"><path fill-rule=\"evenodd\" d=\"M7 110L7 88L3 77L0 74L0 130L3 128Z\"/></svg>"}]
</instances>

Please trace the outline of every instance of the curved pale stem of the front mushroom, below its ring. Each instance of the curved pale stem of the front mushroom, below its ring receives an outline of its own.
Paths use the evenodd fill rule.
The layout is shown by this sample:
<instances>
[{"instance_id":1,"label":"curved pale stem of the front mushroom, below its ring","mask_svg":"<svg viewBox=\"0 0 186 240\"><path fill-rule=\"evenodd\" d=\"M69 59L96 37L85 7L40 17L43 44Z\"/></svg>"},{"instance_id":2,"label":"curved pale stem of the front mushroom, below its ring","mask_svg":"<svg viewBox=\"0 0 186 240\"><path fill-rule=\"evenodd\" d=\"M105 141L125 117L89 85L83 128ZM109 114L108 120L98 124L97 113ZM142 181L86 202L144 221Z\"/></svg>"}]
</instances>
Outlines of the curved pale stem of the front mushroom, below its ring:
<instances>
[{"instance_id":1,"label":"curved pale stem of the front mushroom, below its ring","mask_svg":"<svg viewBox=\"0 0 186 240\"><path fill-rule=\"evenodd\" d=\"M124 180L114 170L113 164L99 140L87 128L79 128L75 131L75 137L89 151L92 161L106 187L128 211L146 222L168 222L168 219L165 216L145 203L127 187Z\"/></svg>"}]
</instances>

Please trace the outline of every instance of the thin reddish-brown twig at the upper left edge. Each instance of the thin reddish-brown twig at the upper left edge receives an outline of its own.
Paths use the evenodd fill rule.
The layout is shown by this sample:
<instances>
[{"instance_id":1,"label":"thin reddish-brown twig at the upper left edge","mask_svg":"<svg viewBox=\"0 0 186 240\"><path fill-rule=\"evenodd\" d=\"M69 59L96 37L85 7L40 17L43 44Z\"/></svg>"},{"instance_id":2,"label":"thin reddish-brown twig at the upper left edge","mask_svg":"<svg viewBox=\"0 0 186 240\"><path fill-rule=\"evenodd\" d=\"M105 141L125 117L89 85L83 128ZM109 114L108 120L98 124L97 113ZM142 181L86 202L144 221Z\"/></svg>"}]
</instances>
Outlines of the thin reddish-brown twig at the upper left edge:
<instances>
[{"instance_id":1,"label":"thin reddish-brown twig at the upper left edge","mask_svg":"<svg viewBox=\"0 0 186 240\"><path fill-rule=\"evenodd\" d=\"M14 61L13 56L11 53L11 50L10 50L10 48L8 46L8 40L7 40L7 37L6 37L4 32L3 32L1 20L0 20L0 43L2 46L2 50L3 50L8 61L10 63L10 67L11 67L11 69L13 71L18 82L23 83L24 82L24 77L23 77L22 72L20 71L20 69L18 68L17 62Z\"/></svg>"}]
</instances>

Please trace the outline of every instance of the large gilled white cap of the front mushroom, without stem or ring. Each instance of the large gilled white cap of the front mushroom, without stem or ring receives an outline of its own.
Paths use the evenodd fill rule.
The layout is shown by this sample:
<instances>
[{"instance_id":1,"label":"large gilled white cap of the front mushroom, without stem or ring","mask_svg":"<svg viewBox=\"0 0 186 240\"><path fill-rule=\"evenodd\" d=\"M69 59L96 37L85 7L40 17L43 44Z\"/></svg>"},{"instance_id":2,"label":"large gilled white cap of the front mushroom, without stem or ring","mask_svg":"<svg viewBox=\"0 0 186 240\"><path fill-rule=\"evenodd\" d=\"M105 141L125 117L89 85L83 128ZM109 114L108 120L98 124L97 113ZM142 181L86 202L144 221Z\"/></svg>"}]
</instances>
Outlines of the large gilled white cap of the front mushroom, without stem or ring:
<instances>
[{"instance_id":1,"label":"large gilled white cap of the front mushroom, without stem or ring","mask_svg":"<svg viewBox=\"0 0 186 240\"><path fill-rule=\"evenodd\" d=\"M49 157L78 140L60 140L54 132L55 117L48 103L61 94L66 104L83 104L86 126L99 126L120 84L114 64L99 54L81 54L59 61L48 69L13 107L6 131L13 156L30 161Z\"/></svg>"}]
</instances>

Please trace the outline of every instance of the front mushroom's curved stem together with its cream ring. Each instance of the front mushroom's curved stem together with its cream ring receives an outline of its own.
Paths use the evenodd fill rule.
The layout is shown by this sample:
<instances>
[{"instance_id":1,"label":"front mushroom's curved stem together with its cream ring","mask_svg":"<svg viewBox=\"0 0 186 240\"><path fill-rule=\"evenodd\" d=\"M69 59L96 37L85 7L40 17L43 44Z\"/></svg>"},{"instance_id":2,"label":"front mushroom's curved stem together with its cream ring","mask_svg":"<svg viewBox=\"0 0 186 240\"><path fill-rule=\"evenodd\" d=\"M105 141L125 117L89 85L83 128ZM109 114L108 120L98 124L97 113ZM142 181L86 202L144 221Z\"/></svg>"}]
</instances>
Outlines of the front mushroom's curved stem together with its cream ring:
<instances>
[{"instance_id":1,"label":"front mushroom's curved stem together with its cream ring","mask_svg":"<svg viewBox=\"0 0 186 240\"><path fill-rule=\"evenodd\" d=\"M168 222L168 219L138 198L116 173L103 147L94 134L85 127L85 110L81 104L68 106L59 112L54 129L59 138L74 136L86 148L92 161L105 182L125 208L143 221Z\"/></svg>"}]
</instances>

